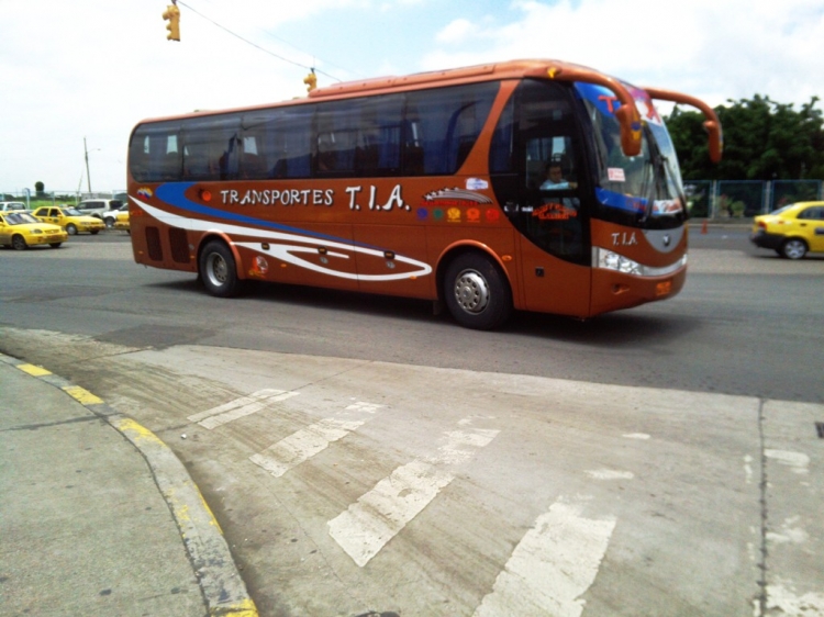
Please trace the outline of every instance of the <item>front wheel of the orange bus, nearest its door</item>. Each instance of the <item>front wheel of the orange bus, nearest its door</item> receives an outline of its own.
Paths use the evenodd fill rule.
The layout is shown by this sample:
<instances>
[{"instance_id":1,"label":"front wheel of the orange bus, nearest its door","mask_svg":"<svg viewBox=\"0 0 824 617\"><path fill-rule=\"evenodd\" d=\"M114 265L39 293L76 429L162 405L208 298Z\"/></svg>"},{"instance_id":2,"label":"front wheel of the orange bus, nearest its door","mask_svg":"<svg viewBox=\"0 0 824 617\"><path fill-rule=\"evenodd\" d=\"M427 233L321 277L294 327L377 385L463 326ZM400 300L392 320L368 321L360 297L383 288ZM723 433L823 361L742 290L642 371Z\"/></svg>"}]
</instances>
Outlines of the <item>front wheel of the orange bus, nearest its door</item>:
<instances>
[{"instance_id":1,"label":"front wheel of the orange bus, nearest its door","mask_svg":"<svg viewBox=\"0 0 824 617\"><path fill-rule=\"evenodd\" d=\"M444 300L461 326L489 330L512 314L512 292L501 269L477 253L456 257L446 268Z\"/></svg>"}]
</instances>

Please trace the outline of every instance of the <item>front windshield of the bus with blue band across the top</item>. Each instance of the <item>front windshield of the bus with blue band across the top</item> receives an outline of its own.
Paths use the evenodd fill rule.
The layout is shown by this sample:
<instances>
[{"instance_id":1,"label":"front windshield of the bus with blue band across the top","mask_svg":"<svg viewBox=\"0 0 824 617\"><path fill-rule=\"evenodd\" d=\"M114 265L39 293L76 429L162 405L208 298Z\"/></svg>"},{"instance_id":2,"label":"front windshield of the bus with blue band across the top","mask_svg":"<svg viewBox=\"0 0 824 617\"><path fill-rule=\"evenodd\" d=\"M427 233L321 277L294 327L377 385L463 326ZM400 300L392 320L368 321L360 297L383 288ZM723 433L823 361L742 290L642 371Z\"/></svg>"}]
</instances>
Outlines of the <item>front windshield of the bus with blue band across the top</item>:
<instances>
[{"instance_id":1,"label":"front windshield of the bus with blue band across the top","mask_svg":"<svg viewBox=\"0 0 824 617\"><path fill-rule=\"evenodd\" d=\"M687 217L681 173L672 139L648 96L628 88L642 114L642 152L621 149L620 105L605 88L577 83L592 124L598 159L597 201L601 217L642 228L671 228Z\"/></svg>"}]
</instances>

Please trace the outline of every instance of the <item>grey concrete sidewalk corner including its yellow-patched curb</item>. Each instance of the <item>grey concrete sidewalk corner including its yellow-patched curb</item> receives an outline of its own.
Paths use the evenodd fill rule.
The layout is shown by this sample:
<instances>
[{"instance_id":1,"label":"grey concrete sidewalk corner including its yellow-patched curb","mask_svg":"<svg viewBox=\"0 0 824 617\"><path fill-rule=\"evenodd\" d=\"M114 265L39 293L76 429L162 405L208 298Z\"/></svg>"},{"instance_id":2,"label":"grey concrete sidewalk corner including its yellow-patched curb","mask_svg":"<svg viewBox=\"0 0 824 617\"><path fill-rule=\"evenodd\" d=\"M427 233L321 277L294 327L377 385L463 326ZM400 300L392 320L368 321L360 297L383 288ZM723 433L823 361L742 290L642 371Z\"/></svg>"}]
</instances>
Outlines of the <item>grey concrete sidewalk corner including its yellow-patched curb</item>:
<instances>
[{"instance_id":1,"label":"grey concrete sidewalk corner including its yellow-patched curb","mask_svg":"<svg viewBox=\"0 0 824 617\"><path fill-rule=\"evenodd\" d=\"M2 354L0 495L0 616L257 616L171 450Z\"/></svg>"}]
</instances>

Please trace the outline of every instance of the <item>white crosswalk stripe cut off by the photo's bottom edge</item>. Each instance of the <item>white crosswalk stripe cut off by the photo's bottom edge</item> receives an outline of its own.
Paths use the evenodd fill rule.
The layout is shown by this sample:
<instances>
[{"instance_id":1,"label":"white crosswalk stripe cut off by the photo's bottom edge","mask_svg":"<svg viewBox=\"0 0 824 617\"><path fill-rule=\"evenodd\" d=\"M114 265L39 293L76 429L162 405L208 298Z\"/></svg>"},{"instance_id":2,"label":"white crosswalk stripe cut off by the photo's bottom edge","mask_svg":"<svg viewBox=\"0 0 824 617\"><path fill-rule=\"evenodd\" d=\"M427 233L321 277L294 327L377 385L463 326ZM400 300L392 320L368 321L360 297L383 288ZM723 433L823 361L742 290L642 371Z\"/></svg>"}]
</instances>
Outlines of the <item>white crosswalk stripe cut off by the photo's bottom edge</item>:
<instances>
[{"instance_id":1,"label":"white crosswalk stripe cut off by the photo's bottom edge","mask_svg":"<svg viewBox=\"0 0 824 617\"><path fill-rule=\"evenodd\" d=\"M579 617L601 565L615 518L584 518L586 498L560 498L535 521L472 617Z\"/></svg>"}]
</instances>

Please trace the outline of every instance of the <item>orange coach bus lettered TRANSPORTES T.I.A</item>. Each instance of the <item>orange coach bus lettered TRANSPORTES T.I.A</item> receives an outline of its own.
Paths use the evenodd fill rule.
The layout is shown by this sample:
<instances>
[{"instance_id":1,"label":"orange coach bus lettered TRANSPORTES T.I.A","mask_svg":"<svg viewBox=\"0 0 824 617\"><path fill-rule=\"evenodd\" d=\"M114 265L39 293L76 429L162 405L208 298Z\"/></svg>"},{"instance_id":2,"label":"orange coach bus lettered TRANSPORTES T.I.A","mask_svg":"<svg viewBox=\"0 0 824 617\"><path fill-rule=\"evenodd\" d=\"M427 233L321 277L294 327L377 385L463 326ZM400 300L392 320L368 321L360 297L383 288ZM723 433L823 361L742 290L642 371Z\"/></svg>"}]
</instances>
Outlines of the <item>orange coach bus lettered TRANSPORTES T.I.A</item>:
<instances>
[{"instance_id":1,"label":"orange coach bus lettered TRANSPORTES T.I.A","mask_svg":"<svg viewBox=\"0 0 824 617\"><path fill-rule=\"evenodd\" d=\"M654 99L554 60L316 89L141 122L129 145L137 263L430 299L471 328L513 310L591 317L671 298L687 207Z\"/></svg>"}]
</instances>

